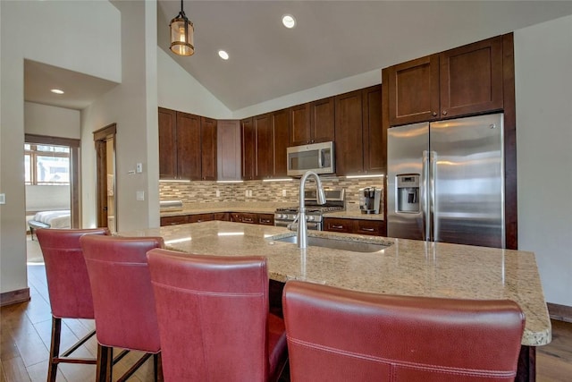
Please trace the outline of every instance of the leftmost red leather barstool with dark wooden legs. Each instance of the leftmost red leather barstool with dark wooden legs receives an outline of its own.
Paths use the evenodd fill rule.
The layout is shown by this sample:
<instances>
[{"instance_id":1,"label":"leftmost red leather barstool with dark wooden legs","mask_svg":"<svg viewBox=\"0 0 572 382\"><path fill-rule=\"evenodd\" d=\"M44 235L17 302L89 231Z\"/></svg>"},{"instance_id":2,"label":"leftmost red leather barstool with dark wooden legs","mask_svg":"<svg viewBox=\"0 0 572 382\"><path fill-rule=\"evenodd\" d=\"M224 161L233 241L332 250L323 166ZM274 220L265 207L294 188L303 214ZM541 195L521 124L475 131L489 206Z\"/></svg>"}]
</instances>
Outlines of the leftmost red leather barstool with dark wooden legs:
<instances>
[{"instance_id":1,"label":"leftmost red leather barstool with dark wooden legs","mask_svg":"<svg viewBox=\"0 0 572 382\"><path fill-rule=\"evenodd\" d=\"M95 331L84 336L70 349L60 354L62 318L94 318L88 269L80 247L80 237L85 234L105 235L109 234L109 231L106 228L38 228L36 231L46 265L47 292L52 309L48 381L55 381L58 363L96 363L95 359L70 357L72 352L75 352L95 334Z\"/></svg>"}]
</instances>

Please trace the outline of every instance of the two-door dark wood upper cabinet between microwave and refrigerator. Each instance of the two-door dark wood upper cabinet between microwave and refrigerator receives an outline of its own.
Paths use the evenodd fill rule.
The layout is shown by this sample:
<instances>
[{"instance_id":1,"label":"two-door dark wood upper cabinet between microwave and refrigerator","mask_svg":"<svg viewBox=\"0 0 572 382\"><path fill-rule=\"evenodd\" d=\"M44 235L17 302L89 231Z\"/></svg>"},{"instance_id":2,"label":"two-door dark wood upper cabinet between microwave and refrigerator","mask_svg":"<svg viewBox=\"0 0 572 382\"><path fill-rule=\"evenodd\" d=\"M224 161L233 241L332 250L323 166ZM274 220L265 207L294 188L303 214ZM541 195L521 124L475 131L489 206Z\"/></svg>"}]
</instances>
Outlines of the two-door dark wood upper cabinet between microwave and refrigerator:
<instances>
[{"instance_id":1,"label":"two-door dark wood upper cabinet between microwave and refrigerator","mask_svg":"<svg viewBox=\"0 0 572 382\"><path fill-rule=\"evenodd\" d=\"M335 98L336 174L381 174L384 166L382 87Z\"/></svg>"}]
</instances>

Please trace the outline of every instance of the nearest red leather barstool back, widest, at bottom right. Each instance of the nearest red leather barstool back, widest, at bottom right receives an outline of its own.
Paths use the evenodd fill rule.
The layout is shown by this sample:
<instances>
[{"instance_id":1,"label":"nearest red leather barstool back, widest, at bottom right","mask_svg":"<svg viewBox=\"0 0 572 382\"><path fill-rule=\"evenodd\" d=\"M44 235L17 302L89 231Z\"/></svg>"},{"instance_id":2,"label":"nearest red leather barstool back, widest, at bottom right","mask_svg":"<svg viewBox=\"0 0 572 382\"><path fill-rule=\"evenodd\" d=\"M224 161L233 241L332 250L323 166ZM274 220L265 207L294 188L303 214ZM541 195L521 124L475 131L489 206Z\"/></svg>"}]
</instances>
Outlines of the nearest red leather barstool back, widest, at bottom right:
<instances>
[{"instance_id":1,"label":"nearest red leather barstool back, widest, at bottom right","mask_svg":"<svg viewBox=\"0 0 572 382\"><path fill-rule=\"evenodd\" d=\"M292 381L513 381L514 301L363 293L297 281L282 294Z\"/></svg>"}]
</instances>

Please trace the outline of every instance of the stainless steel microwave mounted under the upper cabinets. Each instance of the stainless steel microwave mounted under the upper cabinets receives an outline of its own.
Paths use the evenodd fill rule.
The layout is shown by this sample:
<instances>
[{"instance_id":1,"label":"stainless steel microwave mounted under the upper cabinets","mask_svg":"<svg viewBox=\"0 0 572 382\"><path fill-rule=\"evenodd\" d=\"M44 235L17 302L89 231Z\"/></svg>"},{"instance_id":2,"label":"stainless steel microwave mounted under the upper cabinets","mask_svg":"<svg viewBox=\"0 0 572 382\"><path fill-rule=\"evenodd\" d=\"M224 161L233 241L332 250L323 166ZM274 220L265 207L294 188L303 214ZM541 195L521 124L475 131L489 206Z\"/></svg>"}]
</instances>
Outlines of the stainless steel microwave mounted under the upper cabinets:
<instances>
[{"instance_id":1,"label":"stainless steel microwave mounted under the upper cabinets","mask_svg":"<svg viewBox=\"0 0 572 382\"><path fill-rule=\"evenodd\" d=\"M287 152L289 176L303 175L307 171L314 171L315 174L335 172L333 142L294 146L288 148Z\"/></svg>"}]
</instances>

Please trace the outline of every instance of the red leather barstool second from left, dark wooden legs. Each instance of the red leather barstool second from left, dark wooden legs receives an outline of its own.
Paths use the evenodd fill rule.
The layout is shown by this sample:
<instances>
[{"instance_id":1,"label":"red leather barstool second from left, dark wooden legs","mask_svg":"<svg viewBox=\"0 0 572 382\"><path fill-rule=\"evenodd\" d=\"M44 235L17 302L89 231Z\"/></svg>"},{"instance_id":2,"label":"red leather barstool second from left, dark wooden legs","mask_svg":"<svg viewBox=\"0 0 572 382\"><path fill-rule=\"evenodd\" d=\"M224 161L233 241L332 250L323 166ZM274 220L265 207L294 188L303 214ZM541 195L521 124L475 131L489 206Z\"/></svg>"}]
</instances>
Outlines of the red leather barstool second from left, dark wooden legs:
<instances>
[{"instance_id":1,"label":"red leather barstool second from left, dark wooden legs","mask_svg":"<svg viewBox=\"0 0 572 382\"><path fill-rule=\"evenodd\" d=\"M145 352L118 380L126 380L153 355L158 378L159 329L147 250L160 237L85 236L80 239L93 293L97 335L97 381L113 378L113 348Z\"/></svg>"}]
</instances>

